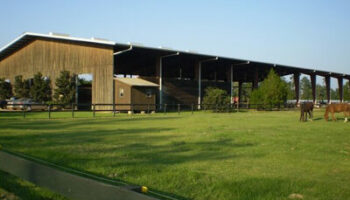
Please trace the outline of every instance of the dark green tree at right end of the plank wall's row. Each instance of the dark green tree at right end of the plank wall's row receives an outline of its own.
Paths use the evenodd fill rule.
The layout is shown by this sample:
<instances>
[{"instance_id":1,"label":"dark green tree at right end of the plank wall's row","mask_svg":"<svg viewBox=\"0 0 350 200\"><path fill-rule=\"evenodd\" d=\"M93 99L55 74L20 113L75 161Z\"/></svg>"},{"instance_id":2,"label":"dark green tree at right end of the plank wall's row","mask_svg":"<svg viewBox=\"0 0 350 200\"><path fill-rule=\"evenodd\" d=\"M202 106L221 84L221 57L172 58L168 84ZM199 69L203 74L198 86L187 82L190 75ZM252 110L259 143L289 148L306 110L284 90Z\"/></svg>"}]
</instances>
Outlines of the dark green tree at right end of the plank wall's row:
<instances>
[{"instance_id":1,"label":"dark green tree at right end of the plank wall's row","mask_svg":"<svg viewBox=\"0 0 350 200\"><path fill-rule=\"evenodd\" d=\"M69 104L75 99L76 75L70 75L69 71L61 71L60 76L56 79L56 89L54 98L58 103Z\"/></svg>"}]
</instances>

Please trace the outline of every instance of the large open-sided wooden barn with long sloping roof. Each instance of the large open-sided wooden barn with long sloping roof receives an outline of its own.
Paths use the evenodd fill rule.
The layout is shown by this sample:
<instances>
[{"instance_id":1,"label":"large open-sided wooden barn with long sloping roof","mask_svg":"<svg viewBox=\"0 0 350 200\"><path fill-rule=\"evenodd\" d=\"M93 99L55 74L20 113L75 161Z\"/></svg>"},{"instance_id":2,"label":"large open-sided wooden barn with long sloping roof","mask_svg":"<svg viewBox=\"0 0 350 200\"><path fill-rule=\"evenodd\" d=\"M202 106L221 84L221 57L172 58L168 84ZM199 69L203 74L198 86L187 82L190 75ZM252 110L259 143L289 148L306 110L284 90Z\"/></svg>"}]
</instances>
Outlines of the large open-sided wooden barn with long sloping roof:
<instances>
[{"instance_id":1,"label":"large open-sided wooden barn with long sloping roof","mask_svg":"<svg viewBox=\"0 0 350 200\"><path fill-rule=\"evenodd\" d=\"M158 104L200 104L206 87L223 88L232 96L233 82L239 83L239 91L245 82L257 87L271 68L280 76L294 76L297 100L300 74L310 76L314 101L316 76L325 77L328 101L330 78L338 79L340 100L343 98L343 79L350 79L349 74L343 73L54 33L23 33L0 49L0 77L13 82L17 75L28 79L37 72L51 80L55 80L62 70L91 74L92 103L95 104L117 102L116 75L137 75L156 83ZM54 81L52 84L55 87Z\"/></svg>"}]
</instances>

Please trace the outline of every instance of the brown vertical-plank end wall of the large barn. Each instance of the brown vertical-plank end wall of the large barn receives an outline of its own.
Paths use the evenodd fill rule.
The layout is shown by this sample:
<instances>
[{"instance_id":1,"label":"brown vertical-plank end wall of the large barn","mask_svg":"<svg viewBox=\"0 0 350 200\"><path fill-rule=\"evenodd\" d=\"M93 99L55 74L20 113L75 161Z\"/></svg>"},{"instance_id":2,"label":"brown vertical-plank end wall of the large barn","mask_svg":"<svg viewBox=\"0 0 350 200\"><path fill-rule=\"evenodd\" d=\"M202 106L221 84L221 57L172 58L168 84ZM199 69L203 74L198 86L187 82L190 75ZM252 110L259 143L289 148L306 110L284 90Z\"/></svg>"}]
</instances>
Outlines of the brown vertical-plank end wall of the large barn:
<instances>
[{"instance_id":1,"label":"brown vertical-plank end wall of the large barn","mask_svg":"<svg viewBox=\"0 0 350 200\"><path fill-rule=\"evenodd\" d=\"M112 47L37 39L0 61L0 77L11 83L17 75L32 78L41 72L54 87L62 70L92 74L92 103L113 103Z\"/></svg>"}]
</instances>

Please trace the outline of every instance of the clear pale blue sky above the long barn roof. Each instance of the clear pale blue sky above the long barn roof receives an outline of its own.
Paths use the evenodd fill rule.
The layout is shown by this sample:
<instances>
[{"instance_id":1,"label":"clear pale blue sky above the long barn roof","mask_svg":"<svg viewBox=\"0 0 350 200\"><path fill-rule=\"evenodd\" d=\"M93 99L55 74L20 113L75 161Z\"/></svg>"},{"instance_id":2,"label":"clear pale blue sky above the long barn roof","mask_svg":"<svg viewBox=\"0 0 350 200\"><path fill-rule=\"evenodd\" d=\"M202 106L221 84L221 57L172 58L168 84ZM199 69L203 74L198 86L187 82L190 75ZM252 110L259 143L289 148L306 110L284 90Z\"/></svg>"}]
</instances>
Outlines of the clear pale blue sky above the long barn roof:
<instances>
[{"instance_id":1,"label":"clear pale blue sky above the long barn roof","mask_svg":"<svg viewBox=\"0 0 350 200\"><path fill-rule=\"evenodd\" d=\"M348 0L0 0L0 47L57 32L350 74L349 10Z\"/></svg>"}]
</instances>

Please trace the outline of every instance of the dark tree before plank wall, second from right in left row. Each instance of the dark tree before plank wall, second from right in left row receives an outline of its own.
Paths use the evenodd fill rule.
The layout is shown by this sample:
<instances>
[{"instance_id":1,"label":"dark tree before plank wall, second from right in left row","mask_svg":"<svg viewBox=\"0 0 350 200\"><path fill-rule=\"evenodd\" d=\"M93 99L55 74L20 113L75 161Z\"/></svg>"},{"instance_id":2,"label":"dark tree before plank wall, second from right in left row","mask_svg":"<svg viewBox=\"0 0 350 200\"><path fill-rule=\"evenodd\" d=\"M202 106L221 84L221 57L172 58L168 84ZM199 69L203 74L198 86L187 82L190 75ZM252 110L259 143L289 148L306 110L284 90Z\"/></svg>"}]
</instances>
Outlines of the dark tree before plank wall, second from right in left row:
<instances>
[{"instance_id":1,"label":"dark tree before plank wall, second from right in left row","mask_svg":"<svg viewBox=\"0 0 350 200\"><path fill-rule=\"evenodd\" d=\"M33 78L33 85L30 88L30 95L34 101L39 103L50 101L51 100L50 79L44 78L40 72L35 74Z\"/></svg>"}]
</instances>

